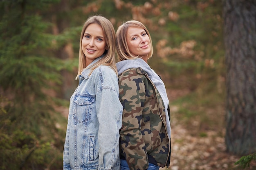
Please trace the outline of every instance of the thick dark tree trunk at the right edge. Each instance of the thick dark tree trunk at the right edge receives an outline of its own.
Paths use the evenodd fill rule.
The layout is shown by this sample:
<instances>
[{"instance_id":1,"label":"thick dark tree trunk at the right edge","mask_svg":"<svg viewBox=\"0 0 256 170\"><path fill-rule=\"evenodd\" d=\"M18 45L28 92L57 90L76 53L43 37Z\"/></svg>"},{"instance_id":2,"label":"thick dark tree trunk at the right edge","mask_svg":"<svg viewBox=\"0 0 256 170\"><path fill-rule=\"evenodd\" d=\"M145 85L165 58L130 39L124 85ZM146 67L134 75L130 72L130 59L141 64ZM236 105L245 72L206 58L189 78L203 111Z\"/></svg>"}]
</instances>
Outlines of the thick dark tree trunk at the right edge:
<instances>
[{"instance_id":1,"label":"thick dark tree trunk at the right edge","mask_svg":"<svg viewBox=\"0 0 256 170\"><path fill-rule=\"evenodd\" d=\"M227 151L256 152L256 0L223 0Z\"/></svg>"}]
</instances>

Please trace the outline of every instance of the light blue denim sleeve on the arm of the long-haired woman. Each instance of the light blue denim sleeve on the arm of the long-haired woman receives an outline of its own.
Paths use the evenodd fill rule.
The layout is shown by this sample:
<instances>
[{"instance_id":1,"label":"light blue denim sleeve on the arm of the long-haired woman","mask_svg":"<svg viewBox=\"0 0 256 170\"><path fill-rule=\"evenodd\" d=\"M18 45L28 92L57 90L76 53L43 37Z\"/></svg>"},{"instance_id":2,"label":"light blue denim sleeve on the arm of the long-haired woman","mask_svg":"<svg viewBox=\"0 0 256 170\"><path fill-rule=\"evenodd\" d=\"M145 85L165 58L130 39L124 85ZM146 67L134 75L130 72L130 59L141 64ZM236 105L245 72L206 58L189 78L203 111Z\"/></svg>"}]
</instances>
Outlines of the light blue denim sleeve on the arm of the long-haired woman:
<instances>
[{"instance_id":1,"label":"light blue denim sleeve on the arm of the long-haired woman","mask_svg":"<svg viewBox=\"0 0 256 170\"><path fill-rule=\"evenodd\" d=\"M111 170L119 157L119 129L122 105L114 72L102 72L96 94L97 118L99 120L99 170ZM112 74L112 75L111 75Z\"/></svg>"}]
</instances>

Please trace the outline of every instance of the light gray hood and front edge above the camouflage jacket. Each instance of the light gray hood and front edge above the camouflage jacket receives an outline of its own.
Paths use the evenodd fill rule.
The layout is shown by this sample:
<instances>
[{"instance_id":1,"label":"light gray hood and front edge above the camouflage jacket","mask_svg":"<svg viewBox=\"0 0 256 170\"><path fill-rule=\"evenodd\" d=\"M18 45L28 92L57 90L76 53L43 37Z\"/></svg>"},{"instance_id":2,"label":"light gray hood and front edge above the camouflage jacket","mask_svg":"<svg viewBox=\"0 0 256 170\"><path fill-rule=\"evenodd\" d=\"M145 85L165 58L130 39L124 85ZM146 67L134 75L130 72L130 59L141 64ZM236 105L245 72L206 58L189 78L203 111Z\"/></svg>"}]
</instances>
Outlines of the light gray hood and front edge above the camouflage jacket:
<instances>
[{"instance_id":1,"label":"light gray hood and front edge above the camouflage jacket","mask_svg":"<svg viewBox=\"0 0 256 170\"><path fill-rule=\"evenodd\" d=\"M167 97L166 93L166 88L164 86L164 82L161 80L161 78L155 73L153 69L150 68L148 63L146 63L143 59L131 59L131 60L124 60L124 61L119 61L117 63L117 71L118 75L120 75L122 72L129 68L142 68L147 74L148 77L153 81L155 86L157 87L158 92L160 93L160 96L162 97L164 101L164 106L165 106L165 112L166 112L166 123L167 123L167 133L168 136L171 137L171 125L168 116L168 105L169 105L169 100Z\"/></svg>"}]
</instances>

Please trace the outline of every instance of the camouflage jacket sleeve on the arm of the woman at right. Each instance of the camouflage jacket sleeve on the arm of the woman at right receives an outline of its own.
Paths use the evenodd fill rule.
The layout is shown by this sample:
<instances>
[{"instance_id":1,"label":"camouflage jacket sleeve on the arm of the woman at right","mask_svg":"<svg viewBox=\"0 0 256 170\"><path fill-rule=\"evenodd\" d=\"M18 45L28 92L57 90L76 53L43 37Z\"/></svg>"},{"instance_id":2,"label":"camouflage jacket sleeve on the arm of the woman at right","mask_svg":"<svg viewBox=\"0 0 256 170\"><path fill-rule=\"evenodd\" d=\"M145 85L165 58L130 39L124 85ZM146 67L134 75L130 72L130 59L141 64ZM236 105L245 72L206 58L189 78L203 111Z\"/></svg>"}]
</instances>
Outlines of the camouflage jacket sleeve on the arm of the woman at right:
<instances>
[{"instance_id":1,"label":"camouflage jacket sleeve on the arm of the woman at right","mask_svg":"<svg viewBox=\"0 0 256 170\"><path fill-rule=\"evenodd\" d=\"M145 85L136 70L119 76L119 98L123 105L120 145L130 170L148 168L148 155L141 134Z\"/></svg>"}]
</instances>

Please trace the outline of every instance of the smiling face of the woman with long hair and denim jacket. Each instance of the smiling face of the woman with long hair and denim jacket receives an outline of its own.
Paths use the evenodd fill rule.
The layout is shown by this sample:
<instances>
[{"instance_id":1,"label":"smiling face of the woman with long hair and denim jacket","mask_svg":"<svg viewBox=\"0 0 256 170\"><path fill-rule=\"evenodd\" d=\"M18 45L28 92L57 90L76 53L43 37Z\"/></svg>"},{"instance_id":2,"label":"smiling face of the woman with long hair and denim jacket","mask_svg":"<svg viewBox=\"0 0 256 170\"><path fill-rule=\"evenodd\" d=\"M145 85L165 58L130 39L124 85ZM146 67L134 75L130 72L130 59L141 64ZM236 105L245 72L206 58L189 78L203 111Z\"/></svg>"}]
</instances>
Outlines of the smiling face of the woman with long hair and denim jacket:
<instances>
[{"instance_id":1,"label":"smiling face of the woman with long hair and denim jacket","mask_svg":"<svg viewBox=\"0 0 256 170\"><path fill-rule=\"evenodd\" d=\"M88 66L94 59L100 57L106 50L106 39L99 24L90 24L84 32L82 50L85 54L85 64Z\"/></svg>"}]
</instances>

